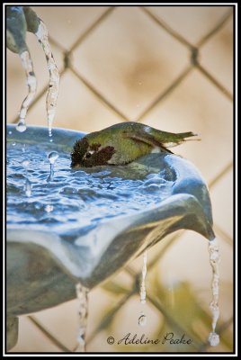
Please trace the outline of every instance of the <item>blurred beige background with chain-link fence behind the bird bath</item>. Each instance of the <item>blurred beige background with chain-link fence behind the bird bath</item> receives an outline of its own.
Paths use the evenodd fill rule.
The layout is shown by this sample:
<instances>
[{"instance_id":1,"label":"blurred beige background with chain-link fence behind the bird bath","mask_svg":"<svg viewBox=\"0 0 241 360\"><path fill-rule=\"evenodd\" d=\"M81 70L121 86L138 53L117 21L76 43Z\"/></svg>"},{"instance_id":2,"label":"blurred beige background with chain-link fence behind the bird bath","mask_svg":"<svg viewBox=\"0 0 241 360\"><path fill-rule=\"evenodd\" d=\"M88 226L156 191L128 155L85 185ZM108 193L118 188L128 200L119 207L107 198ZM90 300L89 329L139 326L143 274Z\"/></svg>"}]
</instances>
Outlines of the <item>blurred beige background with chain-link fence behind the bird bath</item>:
<instances>
[{"instance_id":1,"label":"blurred beige background with chain-link fence behind the bird bath","mask_svg":"<svg viewBox=\"0 0 241 360\"><path fill-rule=\"evenodd\" d=\"M211 269L208 243L192 231L166 237L147 254L147 326L138 258L89 294L89 352L233 351L233 8L231 6L32 6L46 23L60 71L54 127L101 130L141 121L160 130L192 130L174 152L197 166L210 186L219 238L218 347L210 347ZM47 126L49 73L28 33L38 94L26 121ZM7 122L18 121L27 93L20 58L7 50ZM20 318L12 352L62 352L76 347L77 301ZM108 345L127 333L163 338L183 333L192 345Z\"/></svg>"}]
</instances>

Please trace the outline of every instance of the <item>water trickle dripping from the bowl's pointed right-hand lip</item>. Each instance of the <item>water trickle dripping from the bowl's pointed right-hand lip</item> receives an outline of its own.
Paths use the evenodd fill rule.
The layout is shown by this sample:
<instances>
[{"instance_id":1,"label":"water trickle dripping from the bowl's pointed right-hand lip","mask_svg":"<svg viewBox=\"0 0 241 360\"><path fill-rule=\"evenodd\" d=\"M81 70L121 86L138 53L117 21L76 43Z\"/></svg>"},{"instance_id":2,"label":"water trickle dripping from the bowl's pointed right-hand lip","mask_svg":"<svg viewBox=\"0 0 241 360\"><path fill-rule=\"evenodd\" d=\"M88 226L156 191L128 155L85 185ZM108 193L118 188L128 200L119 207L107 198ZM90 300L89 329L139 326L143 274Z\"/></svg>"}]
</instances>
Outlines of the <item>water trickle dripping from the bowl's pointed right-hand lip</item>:
<instances>
[{"instance_id":1,"label":"water trickle dripping from the bowl's pointed right-hand lip","mask_svg":"<svg viewBox=\"0 0 241 360\"><path fill-rule=\"evenodd\" d=\"M211 347L219 345L219 334L215 332L219 320L219 243L217 238L209 241L210 266L212 268L212 301L210 310L212 313L212 331L210 332L209 342Z\"/></svg>"}]
</instances>

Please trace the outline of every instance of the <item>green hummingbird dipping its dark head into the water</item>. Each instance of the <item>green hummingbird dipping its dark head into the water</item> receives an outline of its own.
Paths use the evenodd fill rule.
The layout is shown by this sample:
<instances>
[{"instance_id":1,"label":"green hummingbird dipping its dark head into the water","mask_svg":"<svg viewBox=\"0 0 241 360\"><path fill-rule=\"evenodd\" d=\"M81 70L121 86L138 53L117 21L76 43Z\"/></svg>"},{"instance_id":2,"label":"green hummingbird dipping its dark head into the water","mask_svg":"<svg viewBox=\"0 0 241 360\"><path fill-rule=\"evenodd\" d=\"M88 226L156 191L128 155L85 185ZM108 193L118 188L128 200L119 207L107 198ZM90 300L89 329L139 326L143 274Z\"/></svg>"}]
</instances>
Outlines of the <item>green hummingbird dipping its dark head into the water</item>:
<instances>
[{"instance_id":1,"label":"green hummingbird dipping its dark head into the water","mask_svg":"<svg viewBox=\"0 0 241 360\"><path fill-rule=\"evenodd\" d=\"M126 121L78 139L71 153L71 167L126 165L153 152L171 153L168 148L197 136L192 131L173 133L143 123Z\"/></svg>"}]
</instances>

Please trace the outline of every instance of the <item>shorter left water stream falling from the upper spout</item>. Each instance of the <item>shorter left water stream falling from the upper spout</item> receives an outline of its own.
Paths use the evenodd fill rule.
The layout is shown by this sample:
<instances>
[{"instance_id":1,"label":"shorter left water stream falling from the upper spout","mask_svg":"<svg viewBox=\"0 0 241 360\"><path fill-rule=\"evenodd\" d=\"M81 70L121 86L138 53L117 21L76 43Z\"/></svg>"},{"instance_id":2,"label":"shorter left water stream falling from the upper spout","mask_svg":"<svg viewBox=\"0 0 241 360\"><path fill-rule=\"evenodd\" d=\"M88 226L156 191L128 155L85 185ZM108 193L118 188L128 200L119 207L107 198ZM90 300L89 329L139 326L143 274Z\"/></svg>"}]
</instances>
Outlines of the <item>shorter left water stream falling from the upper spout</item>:
<instances>
[{"instance_id":1,"label":"shorter left water stream falling from the upper spout","mask_svg":"<svg viewBox=\"0 0 241 360\"><path fill-rule=\"evenodd\" d=\"M37 80L36 80L36 76L33 71L30 52L28 50L23 51L22 54L20 54L20 58L22 61L22 67L25 70L25 74L26 74L26 78L27 78L27 85L29 88L29 92L22 102L20 115L19 115L19 121L16 126L16 130L23 132L27 129L26 120L25 120L26 114L27 114L29 106L36 94Z\"/></svg>"}]
</instances>

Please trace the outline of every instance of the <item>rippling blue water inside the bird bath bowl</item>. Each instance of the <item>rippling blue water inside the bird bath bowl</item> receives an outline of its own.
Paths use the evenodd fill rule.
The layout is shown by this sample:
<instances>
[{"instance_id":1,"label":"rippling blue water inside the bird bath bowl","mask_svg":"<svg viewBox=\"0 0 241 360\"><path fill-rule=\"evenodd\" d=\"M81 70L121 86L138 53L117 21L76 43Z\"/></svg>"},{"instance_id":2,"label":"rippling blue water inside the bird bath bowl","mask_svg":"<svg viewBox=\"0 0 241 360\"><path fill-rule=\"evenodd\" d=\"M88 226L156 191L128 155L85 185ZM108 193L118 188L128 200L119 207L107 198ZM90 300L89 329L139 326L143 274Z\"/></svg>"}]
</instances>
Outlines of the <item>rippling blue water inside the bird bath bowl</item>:
<instances>
[{"instance_id":1,"label":"rippling blue water inside the bird bath bowl","mask_svg":"<svg viewBox=\"0 0 241 360\"><path fill-rule=\"evenodd\" d=\"M70 154L45 144L7 143L7 226L47 230L76 238L100 222L154 208L170 193L173 181L165 174L143 179L114 175L116 166L102 171L72 170ZM54 160L54 161L53 161Z\"/></svg>"}]
</instances>

